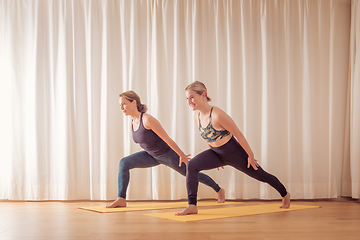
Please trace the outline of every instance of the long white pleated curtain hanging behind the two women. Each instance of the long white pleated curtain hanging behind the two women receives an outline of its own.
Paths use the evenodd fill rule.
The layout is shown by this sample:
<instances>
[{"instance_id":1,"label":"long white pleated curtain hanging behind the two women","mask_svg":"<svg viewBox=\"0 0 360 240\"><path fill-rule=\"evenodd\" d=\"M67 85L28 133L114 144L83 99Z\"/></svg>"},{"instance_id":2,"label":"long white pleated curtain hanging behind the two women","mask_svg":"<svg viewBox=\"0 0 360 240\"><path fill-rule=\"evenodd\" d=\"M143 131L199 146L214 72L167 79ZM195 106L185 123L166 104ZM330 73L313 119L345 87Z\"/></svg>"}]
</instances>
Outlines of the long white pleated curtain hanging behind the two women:
<instances>
[{"instance_id":1,"label":"long white pleated curtain hanging behind the two women","mask_svg":"<svg viewBox=\"0 0 360 240\"><path fill-rule=\"evenodd\" d=\"M194 80L293 198L359 198L356 15L355 0L0 0L0 199L116 198L119 160L141 150L118 105L130 89L184 152L205 150ZM280 197L205 173L228 199ZM186 196L170 168L131 171L130 200Z\"/></svg>"}]
</instances>

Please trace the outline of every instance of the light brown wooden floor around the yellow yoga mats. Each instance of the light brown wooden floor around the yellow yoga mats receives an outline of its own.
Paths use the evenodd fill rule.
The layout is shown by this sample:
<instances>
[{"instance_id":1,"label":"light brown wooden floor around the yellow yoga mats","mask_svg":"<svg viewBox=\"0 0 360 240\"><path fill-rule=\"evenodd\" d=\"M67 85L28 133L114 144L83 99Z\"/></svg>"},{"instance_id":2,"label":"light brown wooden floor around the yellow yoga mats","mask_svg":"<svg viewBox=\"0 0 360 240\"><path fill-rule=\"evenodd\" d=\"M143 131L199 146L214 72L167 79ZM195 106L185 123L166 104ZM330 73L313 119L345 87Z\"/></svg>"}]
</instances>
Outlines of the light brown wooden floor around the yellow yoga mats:
<instances>
[{"instance_id":1,"label":"light brown wooden floor around the yellow yoga mats","mask_svg":"<svg viewBox=\"0 0 360 240\"><path fill-rule=\"evenodd\" d=\"M268 203L273 202L245 201L243 205ZM78 207L107 202L0 201L0 239L360 239L359 201L292 203L321 208L183 223L143 215L169 209L96 213Z\"/></svg>"}]
</instances>

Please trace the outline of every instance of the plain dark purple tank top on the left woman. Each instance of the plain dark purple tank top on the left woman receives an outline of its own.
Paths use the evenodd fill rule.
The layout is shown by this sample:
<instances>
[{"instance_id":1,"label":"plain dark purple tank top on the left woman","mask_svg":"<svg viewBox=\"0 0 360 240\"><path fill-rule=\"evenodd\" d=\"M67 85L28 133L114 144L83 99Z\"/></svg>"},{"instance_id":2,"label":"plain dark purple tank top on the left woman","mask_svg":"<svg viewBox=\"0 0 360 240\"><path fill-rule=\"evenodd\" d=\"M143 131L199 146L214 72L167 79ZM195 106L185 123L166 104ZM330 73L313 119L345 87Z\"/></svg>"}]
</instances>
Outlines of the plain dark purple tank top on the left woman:
<instances>
[{"instance_id":1,"label":"plain dark purple tank top on the left woman","mask_svg":"<svg viewBox=\"0 0 360 240\"><path fill-rule=\"evenodd\" d=\"M134 128L131 127L133 133L134 142L140 144L140 146L147 151L151 156L157 157L168 150L170 150L169 145L164 142L153 130L146 129L142 122L142 117L144 113L141 113L140 116L140 125L139 129L134 131Z\"/></svg>"}]
</instances>

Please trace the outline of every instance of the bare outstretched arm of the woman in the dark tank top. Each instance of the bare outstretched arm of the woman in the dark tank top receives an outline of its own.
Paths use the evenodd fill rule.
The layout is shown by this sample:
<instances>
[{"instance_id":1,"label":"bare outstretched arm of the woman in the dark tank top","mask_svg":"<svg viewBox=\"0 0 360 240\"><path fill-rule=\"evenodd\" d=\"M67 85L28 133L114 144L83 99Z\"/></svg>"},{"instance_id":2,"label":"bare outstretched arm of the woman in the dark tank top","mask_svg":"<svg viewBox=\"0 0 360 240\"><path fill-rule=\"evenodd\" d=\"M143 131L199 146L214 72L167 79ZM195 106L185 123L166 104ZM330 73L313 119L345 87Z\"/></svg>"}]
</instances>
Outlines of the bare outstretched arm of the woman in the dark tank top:
<instances>
[{"instance_id":1,"label":"bare outstretched arm of the woman in the dark tank top","mask_svg":"<svg viewBox=\"0 0 360 240\"><path fill-rule=\"evenodd\" d=\"M166 131L156 118L149 114L144 114L143 124L145 128L153 130L154 133L156 133L164 142L167 143L167 145L169 145L169 147L171 147L171 149L173 149L180 156L179 166L181 166L182 162L187 164L190 159L190 154L186 155L180 149L180 147L174 142L174 140L169 137L169 135L166 133Z\"/></svg>"}]
</instances>

